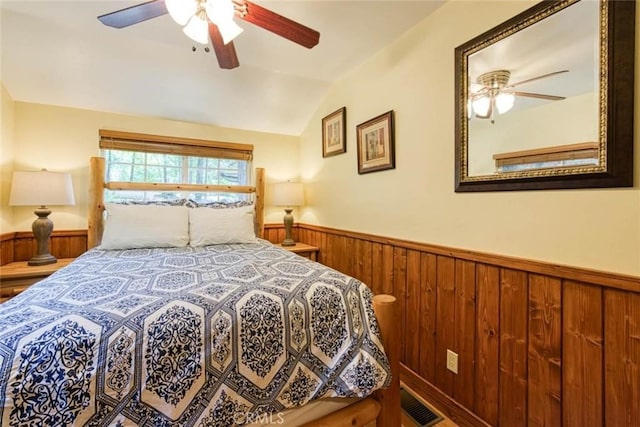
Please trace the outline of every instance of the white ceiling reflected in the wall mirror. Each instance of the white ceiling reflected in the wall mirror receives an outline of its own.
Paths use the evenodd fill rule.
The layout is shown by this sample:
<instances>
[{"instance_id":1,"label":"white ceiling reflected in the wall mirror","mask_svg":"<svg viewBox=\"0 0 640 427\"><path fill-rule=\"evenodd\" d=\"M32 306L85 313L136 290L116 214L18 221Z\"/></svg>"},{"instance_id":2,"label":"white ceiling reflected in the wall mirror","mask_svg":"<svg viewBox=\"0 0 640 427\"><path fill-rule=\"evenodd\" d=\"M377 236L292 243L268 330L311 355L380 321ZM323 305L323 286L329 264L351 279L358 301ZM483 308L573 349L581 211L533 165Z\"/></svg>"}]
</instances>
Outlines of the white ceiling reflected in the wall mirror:
<instances>
[{"instance_id":1,"label":"white ceiling reflected in the wall mirror","mask_svg":"<svg viewBox=\"0 0 640 427\"><path fill-rule=\"evenodd\" d=\"M516 91L567 98L597 92L599 12L598 2L580 1L479 50L469 57L470 82L483 73L506 69ZM561 70L568 72L518 85ZM514 111L548 102L555 101L518 97Z\"/></svg>"}]
</instances>

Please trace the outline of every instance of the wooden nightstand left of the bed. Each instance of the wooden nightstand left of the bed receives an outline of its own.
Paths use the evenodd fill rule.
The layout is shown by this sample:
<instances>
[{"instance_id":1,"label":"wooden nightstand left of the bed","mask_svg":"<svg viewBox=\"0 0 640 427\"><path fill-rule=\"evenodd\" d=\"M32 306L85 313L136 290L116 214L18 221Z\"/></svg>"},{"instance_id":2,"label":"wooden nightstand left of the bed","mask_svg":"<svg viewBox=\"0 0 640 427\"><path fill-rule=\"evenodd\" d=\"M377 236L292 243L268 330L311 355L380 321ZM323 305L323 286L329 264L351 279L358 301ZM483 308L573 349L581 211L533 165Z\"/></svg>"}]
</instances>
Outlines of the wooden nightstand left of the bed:
<instances>
[{"instance_id":1,"label":"wooden nightstand left of the bed","mask_svg":"<svg viewBox=\"0 0 640 427\"><path fill-rule=\"evenodd\" d=\"M5 302L36 282L49 277L73 261L74 258L62 258L55 264L27 265L27 261L12 262L0 266L0 302Z\"/></svg>"}]
</instances>

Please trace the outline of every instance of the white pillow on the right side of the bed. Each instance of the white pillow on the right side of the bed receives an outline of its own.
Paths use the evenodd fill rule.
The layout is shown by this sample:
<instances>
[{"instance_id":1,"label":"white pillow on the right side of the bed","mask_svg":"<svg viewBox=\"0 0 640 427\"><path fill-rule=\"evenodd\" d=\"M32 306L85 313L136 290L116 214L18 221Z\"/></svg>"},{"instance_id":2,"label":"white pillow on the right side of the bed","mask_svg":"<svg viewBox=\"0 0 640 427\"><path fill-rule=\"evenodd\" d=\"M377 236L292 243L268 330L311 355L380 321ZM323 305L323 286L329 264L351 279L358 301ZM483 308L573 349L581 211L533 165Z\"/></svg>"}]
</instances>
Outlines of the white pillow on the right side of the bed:
<instances>
[{"instance_id":1,"label":"white pillow on the right side of the bed","mask_svg":"<svg viewBox=\"0 0 640 427\"><path fill-rule=\"evenodd\" d=\"M189 245L255 243L253 206L189 209Z\"/></svg>"}]
</instances>

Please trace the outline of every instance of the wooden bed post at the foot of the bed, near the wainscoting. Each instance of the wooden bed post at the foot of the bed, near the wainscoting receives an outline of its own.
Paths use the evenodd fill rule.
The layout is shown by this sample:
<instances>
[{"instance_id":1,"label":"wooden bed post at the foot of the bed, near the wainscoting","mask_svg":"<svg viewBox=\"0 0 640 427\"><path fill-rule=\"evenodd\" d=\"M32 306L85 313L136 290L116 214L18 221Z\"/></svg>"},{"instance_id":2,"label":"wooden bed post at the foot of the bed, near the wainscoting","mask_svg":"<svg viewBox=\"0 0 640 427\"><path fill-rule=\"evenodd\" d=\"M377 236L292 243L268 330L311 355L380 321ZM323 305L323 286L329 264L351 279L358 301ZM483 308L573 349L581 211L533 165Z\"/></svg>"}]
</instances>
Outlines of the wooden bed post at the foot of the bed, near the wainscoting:
<instances>
[{"instance_id":1,"label":"wooden bed post at the foot of the bed, near the wainscoting","mask_svg":"<svg viewBox=\"0 0 640 427\"><path fill-rule=\"evenodd\" d=\"M396 298L392 295L373 297L373 311L376 313L382 345L391 365L391 385L375 393L382 404L376 420L378 427L400 426L400 318Z\"/></svg>"}]
</instances>

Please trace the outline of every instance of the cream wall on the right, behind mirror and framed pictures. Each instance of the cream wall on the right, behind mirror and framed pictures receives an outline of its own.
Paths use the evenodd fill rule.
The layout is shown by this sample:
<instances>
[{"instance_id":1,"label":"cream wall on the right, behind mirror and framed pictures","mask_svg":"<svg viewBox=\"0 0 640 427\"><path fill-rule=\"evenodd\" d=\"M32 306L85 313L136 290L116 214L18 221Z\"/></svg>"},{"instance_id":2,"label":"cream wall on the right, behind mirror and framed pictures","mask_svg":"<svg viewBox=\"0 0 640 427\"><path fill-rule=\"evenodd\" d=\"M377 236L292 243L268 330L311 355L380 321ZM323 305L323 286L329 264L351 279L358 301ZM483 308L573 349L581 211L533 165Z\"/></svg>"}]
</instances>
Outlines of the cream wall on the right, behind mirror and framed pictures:
<instances>
[{"instance_id":1,"label":"cream wall on the right, behind mirror and framed pictures","mask_svg":"<svg viewBox=\"0 0 640 427\"><path fill-rule=\"evenodd\" d=\"M447 2L337 84L302 135L309 206L301 220L640 275L637 173L625 189L454 192L454 49L534 3ZM321 119L342 106L347 152L322 158ZM358 175L356 125L388 110L396 169Z\"/></svg>"}]
</instances>

